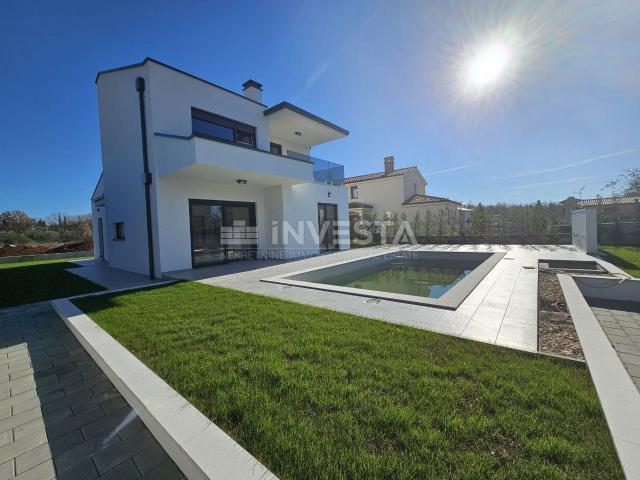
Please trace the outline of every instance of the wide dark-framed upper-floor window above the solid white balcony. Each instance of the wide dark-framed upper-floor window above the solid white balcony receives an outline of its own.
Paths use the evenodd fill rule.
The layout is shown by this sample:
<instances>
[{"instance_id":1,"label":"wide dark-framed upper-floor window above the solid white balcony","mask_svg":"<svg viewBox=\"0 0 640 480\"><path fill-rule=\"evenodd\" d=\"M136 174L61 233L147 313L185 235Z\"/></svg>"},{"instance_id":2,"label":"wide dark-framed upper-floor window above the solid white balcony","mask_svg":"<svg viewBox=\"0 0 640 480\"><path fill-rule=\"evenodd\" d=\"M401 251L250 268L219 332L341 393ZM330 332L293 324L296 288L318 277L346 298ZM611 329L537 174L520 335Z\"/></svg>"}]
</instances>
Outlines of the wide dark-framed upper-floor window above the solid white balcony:
<instances>
[{"instance_id":1,"label":"wide dark-framed upper-floor window above the solid white balcony","mask_svg":"<svg viewBox=\"0 0 640 480\"><path fill-rule=\"evenodd\" d=\"M202 137L256 146L256 127L197 108L191 108L191 130Z\"/></svg>"}]
</instances>

